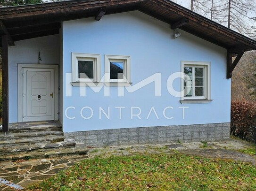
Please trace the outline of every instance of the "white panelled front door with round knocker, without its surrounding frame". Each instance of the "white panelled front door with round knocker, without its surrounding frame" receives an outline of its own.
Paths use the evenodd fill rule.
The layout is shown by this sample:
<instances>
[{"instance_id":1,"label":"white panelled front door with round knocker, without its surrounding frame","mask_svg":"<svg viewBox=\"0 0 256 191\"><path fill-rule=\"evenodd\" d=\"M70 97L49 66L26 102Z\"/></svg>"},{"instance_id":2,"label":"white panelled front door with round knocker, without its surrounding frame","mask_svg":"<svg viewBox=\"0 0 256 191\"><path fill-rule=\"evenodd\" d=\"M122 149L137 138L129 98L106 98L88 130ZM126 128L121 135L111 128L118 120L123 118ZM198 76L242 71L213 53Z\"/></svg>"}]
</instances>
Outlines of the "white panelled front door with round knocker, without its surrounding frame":
<instances>
[{"instance_id":1,"label":"white panelled front door with round knocker, without its surrounding frame","mask_svg":"<svg viewBox=\"0 0 256 191\"><path fill-rule=\"evenodd\" d=\"M23 69L23 121L54 120L54 69Z\"/></svg>"}]
</instances>

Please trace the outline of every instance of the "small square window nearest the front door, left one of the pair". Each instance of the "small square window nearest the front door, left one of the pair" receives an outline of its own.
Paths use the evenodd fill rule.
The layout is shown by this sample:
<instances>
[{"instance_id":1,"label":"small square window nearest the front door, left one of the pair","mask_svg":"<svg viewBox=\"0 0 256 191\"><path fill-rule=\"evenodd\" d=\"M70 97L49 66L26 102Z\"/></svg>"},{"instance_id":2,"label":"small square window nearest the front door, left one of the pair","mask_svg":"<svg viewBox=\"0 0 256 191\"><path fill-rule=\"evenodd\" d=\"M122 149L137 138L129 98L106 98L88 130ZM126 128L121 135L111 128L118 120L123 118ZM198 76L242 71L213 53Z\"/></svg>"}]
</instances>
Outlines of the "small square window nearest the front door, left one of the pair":
<instances>
[{"instance_id":1,"label":"small square window nearest the front door, left one of the pair","mask_svg":"<svg viewBox=\"0 0 256 191\"><path fill-rule=\"evenodd\" d=\"M72 82L99 82L100 55L72 53Z\"/></svg>"}]
</instances>

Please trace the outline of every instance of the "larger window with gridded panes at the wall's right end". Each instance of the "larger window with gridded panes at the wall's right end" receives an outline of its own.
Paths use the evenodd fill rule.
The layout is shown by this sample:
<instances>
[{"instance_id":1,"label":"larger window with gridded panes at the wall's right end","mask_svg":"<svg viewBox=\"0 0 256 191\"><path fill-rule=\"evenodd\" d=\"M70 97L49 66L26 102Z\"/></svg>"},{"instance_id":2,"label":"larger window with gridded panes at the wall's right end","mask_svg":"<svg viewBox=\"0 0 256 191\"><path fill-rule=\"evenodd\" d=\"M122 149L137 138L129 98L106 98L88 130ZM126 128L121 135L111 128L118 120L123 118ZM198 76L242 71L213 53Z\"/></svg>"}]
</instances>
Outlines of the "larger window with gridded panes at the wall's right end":
<instances>
[{"instance_id":1,"label":"larger window with gridded panes at the wall's right end","mask_svg":"<svg viewBox=\"0 0 256 191\"><path fill-rule=\"evenodd\" d=\"M210 102L210 63L182 61L182 103Z\"/></svg>"}]
</instances>

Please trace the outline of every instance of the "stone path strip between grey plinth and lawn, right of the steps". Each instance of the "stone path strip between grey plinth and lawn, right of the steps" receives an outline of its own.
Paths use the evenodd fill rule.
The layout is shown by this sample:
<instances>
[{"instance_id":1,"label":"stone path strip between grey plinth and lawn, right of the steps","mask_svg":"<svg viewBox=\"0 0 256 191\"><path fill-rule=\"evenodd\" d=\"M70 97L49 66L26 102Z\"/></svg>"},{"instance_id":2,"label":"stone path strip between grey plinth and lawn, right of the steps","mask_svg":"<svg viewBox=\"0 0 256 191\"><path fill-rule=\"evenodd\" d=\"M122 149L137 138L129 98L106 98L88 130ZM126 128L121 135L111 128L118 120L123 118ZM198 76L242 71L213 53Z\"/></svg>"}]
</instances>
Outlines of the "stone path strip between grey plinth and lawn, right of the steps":
<instances>
[{"instance_id":1,"label":"stone path strip between grey plinth and lawn, right of the steps","mask_svg":"<svg viewBox=\"0 0 256 191\"><path fill-rule=\"evenodd\" d=\"M251 147L252 144L242 141L231 139L228 142L213 142L208 143L207 147L203 147L202 143L173 143L164 145L131 145L131 146L116 146L107 148L98 148L89 150L88 154L92 156L109 156L114 155L132 155L136 153L148 153L148 154L158 154L158 153L170 153L172 154L174 150L179 153L197 155L208 158L218 158L235 160L241 162L249 162L252 165L256 165L256 156L240 153L236 150L246 149Z\"/></svg>"}]
</instances>

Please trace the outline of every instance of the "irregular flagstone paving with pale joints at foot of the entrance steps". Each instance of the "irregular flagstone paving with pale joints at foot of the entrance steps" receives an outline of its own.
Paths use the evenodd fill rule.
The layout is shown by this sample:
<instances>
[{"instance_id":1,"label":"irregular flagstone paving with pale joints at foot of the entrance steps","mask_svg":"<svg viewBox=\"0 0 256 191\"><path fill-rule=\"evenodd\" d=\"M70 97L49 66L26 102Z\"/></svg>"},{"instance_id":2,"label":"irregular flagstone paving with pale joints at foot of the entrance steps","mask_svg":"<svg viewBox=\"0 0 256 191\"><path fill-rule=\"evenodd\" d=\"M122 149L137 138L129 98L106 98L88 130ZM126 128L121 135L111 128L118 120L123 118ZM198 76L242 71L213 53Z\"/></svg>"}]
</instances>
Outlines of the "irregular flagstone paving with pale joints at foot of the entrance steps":
<instances>
[{"instance_id":1,"label":"irregular flagstone paving with pale joints at foot of the entrance steps","mask_svg":"<svg viewBox=\"0 0 256 191\"><path fill-rule=\"evenodd\" d=\"M0 162L0 177L27 187L55 175L60 170L73 166L80 160L88 158L88 155L66 156L53 159L17 160ZM4 184L0 184L0 191L8 190Z\"/></svg>"}]
</instances>

